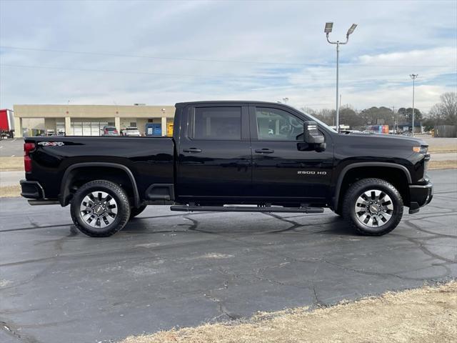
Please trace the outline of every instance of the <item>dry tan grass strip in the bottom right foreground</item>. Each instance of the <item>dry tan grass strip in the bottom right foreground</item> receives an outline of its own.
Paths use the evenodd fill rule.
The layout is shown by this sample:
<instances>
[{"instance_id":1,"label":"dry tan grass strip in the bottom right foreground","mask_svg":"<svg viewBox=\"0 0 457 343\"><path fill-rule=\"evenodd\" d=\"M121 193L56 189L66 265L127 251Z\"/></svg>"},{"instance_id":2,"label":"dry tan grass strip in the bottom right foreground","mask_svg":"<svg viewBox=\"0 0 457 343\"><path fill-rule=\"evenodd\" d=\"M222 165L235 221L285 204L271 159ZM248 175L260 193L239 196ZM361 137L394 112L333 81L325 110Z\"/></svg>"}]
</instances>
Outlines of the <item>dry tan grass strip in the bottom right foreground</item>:
<instances>
[{"instance_id":1,"label":"dry tan grass strip in the bottom right foreground","mask_svg":"<svg viewBox=\"0 0 457 343\"><path fill-rule=\"evenodd\" d=\"M449 282L311 312L301 307L258 313L246 321L132 336L122 343L450 343L456 337L457 282Z\"/></svg>"}]
</instances>

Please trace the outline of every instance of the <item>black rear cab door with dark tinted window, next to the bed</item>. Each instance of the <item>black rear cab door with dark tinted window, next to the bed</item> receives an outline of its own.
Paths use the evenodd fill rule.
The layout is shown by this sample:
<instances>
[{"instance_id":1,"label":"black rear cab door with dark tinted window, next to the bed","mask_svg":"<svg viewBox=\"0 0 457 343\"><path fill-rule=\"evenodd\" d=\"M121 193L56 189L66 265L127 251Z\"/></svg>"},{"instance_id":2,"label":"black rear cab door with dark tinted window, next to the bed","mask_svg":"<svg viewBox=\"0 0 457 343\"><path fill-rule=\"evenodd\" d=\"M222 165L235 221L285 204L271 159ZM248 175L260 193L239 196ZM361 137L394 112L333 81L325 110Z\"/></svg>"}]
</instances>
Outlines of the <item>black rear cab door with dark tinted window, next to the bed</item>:
<instances>
[{"instance_id":1,"label":"black rear cab door with dark tinted window, next to the bed","mask_svg":"<svg viewBox=\"0 0 457 343\"><path fill-rule=\"evenodd\" d=\"M184 109L178 150L179 197L244 197L251 187L246 104L201 104Z\"/></svg>"}]
</instances>

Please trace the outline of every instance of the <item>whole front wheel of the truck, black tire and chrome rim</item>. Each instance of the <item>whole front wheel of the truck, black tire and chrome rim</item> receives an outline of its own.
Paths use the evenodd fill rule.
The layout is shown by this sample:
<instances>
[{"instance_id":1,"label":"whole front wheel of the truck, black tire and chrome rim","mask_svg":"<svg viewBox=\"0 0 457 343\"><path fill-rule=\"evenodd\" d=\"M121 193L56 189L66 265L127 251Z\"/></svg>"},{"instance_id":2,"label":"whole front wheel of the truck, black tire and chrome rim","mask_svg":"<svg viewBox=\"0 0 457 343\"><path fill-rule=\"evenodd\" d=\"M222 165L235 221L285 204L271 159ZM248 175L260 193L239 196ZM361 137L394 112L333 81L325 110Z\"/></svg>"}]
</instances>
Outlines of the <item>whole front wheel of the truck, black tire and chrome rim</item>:
<instances>
[{"instance_id":1,"label":"whole front wheel of the truck, black tire and chrome rim","mask_svg":"<svg viewBox=\"0 0 457 343\"><path fill-rule=\"evenodd\" d=\"M367 194L370 195L367 197ZM382 236L401 221L403 199L397 189L383 179L361 179L344 195L342 212L359 234Z\"/></svg>"}]
</instances>

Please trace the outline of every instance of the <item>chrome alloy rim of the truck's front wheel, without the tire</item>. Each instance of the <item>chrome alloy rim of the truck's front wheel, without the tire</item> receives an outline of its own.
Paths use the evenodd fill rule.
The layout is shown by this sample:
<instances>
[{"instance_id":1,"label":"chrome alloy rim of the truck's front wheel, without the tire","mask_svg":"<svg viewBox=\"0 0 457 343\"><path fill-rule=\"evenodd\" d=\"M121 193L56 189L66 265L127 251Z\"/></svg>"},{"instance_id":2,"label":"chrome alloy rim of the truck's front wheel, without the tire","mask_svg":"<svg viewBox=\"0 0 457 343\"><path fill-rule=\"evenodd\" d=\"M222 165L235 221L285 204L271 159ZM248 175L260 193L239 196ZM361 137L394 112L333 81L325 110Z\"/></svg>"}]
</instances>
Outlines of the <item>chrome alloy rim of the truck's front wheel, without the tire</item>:
<instances>
[{"instance_id":1,"label":"chrome alloy rim of the truck's front wheel, without the tire","mask_svg":"<svg viewBox=\"0 0 457 343\"><path fill-rule=\"evenodd\" d=\"M366 227L382 227L391 220L393 202L388 194L378 189L369 189L357 198L356 217Z\"/></svg>"}]
</instances>

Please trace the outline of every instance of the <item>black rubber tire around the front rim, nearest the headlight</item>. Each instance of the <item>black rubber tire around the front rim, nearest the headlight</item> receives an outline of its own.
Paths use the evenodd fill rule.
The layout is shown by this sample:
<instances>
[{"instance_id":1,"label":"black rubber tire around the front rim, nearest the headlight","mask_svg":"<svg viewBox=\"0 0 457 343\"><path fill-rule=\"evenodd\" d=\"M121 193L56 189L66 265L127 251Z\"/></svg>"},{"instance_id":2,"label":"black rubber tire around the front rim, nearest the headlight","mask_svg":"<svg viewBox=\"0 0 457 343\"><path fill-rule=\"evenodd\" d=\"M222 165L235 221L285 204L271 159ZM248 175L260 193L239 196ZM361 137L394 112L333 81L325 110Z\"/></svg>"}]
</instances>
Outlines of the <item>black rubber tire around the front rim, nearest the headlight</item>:
<instances>
[{"instance_id":1,"label":"black rubber tire around the front rim, nearest the headlight","mask_svg":"<svg viewBox=\"0 0 457 343\"><path fill-rule=\"evenodd\" d=\"M354 210L358 197L360 197L363 192L366 192L369 189L379 190L391 197L393 204L392 217L387 224L384 224L381 227L367 227L366 225L361 224L361 222L358 221L356 211ZM396 188L384 180L361 180L361 182L353 184L351 189L349 189L348 197L346 198L344 206L344 212L346 214L346 218L348 218L351 224L356 227L358 232L361 234L378 236L391 232L401 221L401 217L403 216L403 200L401 199L401 195L398 193Z\"/></svg>"}]
</instances>

